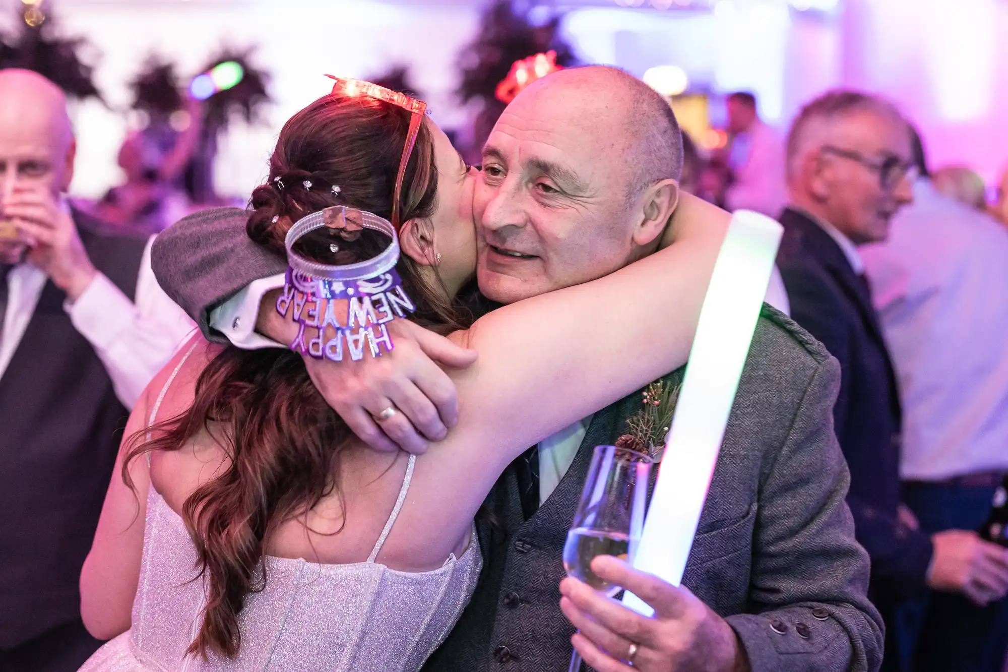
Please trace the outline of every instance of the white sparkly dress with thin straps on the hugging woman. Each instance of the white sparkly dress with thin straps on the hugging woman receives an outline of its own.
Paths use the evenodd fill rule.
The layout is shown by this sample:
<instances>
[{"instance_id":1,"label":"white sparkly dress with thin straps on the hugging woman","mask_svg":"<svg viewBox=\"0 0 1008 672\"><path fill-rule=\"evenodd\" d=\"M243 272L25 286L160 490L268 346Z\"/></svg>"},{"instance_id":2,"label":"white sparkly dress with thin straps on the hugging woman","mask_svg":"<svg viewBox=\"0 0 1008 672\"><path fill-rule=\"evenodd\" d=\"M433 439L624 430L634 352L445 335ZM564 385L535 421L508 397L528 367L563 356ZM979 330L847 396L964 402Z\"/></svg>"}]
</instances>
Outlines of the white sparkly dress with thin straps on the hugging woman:
<instances>
[{"instance_id":1,"label":"white sparkly dress with thin straps on the hugging woman","mask_svg":"<svg viewBox=\"0 0 1008 672\"><path fill-rule=\"evenodd\" d=\"M184 358L179 368L182 363ZM395 508L367 562L264 559L266 588L245 599L234 660L185 656L200 628L204 583L193 580L196 549L181 518L151 486L132 628L99 649L81 671L419 669L469 602L483 559L474 532L462 557L453 554L433 571L401 572L375 562L405 499L414 461L409 458Z\"/></svg>"}]
</instances>

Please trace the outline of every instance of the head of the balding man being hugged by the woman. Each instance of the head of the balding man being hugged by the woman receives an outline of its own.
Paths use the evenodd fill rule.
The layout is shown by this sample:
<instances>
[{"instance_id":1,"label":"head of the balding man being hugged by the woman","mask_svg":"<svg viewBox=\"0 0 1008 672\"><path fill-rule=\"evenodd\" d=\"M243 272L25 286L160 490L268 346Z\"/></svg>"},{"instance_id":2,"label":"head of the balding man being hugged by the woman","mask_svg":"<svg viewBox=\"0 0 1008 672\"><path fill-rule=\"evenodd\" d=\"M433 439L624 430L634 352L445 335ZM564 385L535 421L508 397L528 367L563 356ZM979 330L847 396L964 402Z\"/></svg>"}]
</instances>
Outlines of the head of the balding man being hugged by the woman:
<instances>
[{"instance_id":1,"label":"head of the balding man being hugged by the woman","mask_svg":"<svg viewBox=\"0 0 1008 672\"><path fill-rule=\"evenodd\" d=\"M510 303L650 253L681 170L675 115L639 80L593 67L534 82L483 149L473 199L480 289Z\"/></svg>"}]
</instances>

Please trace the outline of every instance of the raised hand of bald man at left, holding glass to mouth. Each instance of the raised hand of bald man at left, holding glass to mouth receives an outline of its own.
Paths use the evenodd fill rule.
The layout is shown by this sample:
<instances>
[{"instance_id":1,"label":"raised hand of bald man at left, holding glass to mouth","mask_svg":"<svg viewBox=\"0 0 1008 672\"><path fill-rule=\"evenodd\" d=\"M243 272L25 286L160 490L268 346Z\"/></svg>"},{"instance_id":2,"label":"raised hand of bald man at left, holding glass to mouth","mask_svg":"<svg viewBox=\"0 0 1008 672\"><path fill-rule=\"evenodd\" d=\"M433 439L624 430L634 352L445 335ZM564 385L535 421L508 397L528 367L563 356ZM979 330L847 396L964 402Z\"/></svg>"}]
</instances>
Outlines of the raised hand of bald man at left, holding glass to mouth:
<instances>
[{"instance_id":1,"label":"raised hand of bald man at left, holding glass to mouth","mask_svg":"<svg viewBox=\"0 0 1008 672\"><path fill-rule=\"evenodd\" d=\"M71 301L95 277L73 218L45 185L5 176L0 222L0 261L30 261Z\"/></svg>"}]
</instances>

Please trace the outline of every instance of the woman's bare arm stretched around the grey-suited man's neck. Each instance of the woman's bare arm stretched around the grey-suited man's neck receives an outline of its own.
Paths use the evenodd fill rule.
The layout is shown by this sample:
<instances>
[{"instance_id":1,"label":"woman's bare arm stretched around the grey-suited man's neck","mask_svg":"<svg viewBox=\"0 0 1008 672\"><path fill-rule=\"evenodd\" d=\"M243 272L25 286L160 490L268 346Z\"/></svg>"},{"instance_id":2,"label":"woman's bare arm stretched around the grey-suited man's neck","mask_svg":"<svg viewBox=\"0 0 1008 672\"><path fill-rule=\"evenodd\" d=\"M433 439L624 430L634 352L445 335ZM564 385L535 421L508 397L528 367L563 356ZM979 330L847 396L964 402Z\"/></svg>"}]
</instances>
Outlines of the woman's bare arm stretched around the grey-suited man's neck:
<instances>
[{"instance_id":1,"label":"woman's bare arm stretched around the grey-suited man's neck","mask_svg":"<svg viewBox=\"0 0 1008 672\"><path fill-rule=\"evenodd\" d=\"M459 539L521 451L685 363L730 216L699 199L679 207L668 247L453 335L479 352L451 372L459 424L417 459L403 524L383 555L415 554L416 535Z\"/></svg>"}]
</instances>

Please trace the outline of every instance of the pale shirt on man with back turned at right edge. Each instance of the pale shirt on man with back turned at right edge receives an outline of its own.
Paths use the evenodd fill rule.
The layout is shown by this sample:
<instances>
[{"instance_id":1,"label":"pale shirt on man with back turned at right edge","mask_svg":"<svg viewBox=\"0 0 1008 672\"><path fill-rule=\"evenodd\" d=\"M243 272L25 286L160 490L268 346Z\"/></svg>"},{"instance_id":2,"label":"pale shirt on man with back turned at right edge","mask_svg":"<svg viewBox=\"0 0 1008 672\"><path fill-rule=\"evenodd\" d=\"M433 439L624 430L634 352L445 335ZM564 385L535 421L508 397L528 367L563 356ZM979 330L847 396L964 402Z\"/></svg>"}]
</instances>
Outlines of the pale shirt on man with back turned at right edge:
<instances>
[{"instance_id":1,"label":"pale shirt on man with back turned at right edge","mask_svg":"<svg viewBox=\"0 0 1008 672\"><path fill-rule=\"evenodd\" d=\"M902 477L1008 471L1008 231L920 180L861 251L899 377Z\"/></svg>"}]
</instances>

